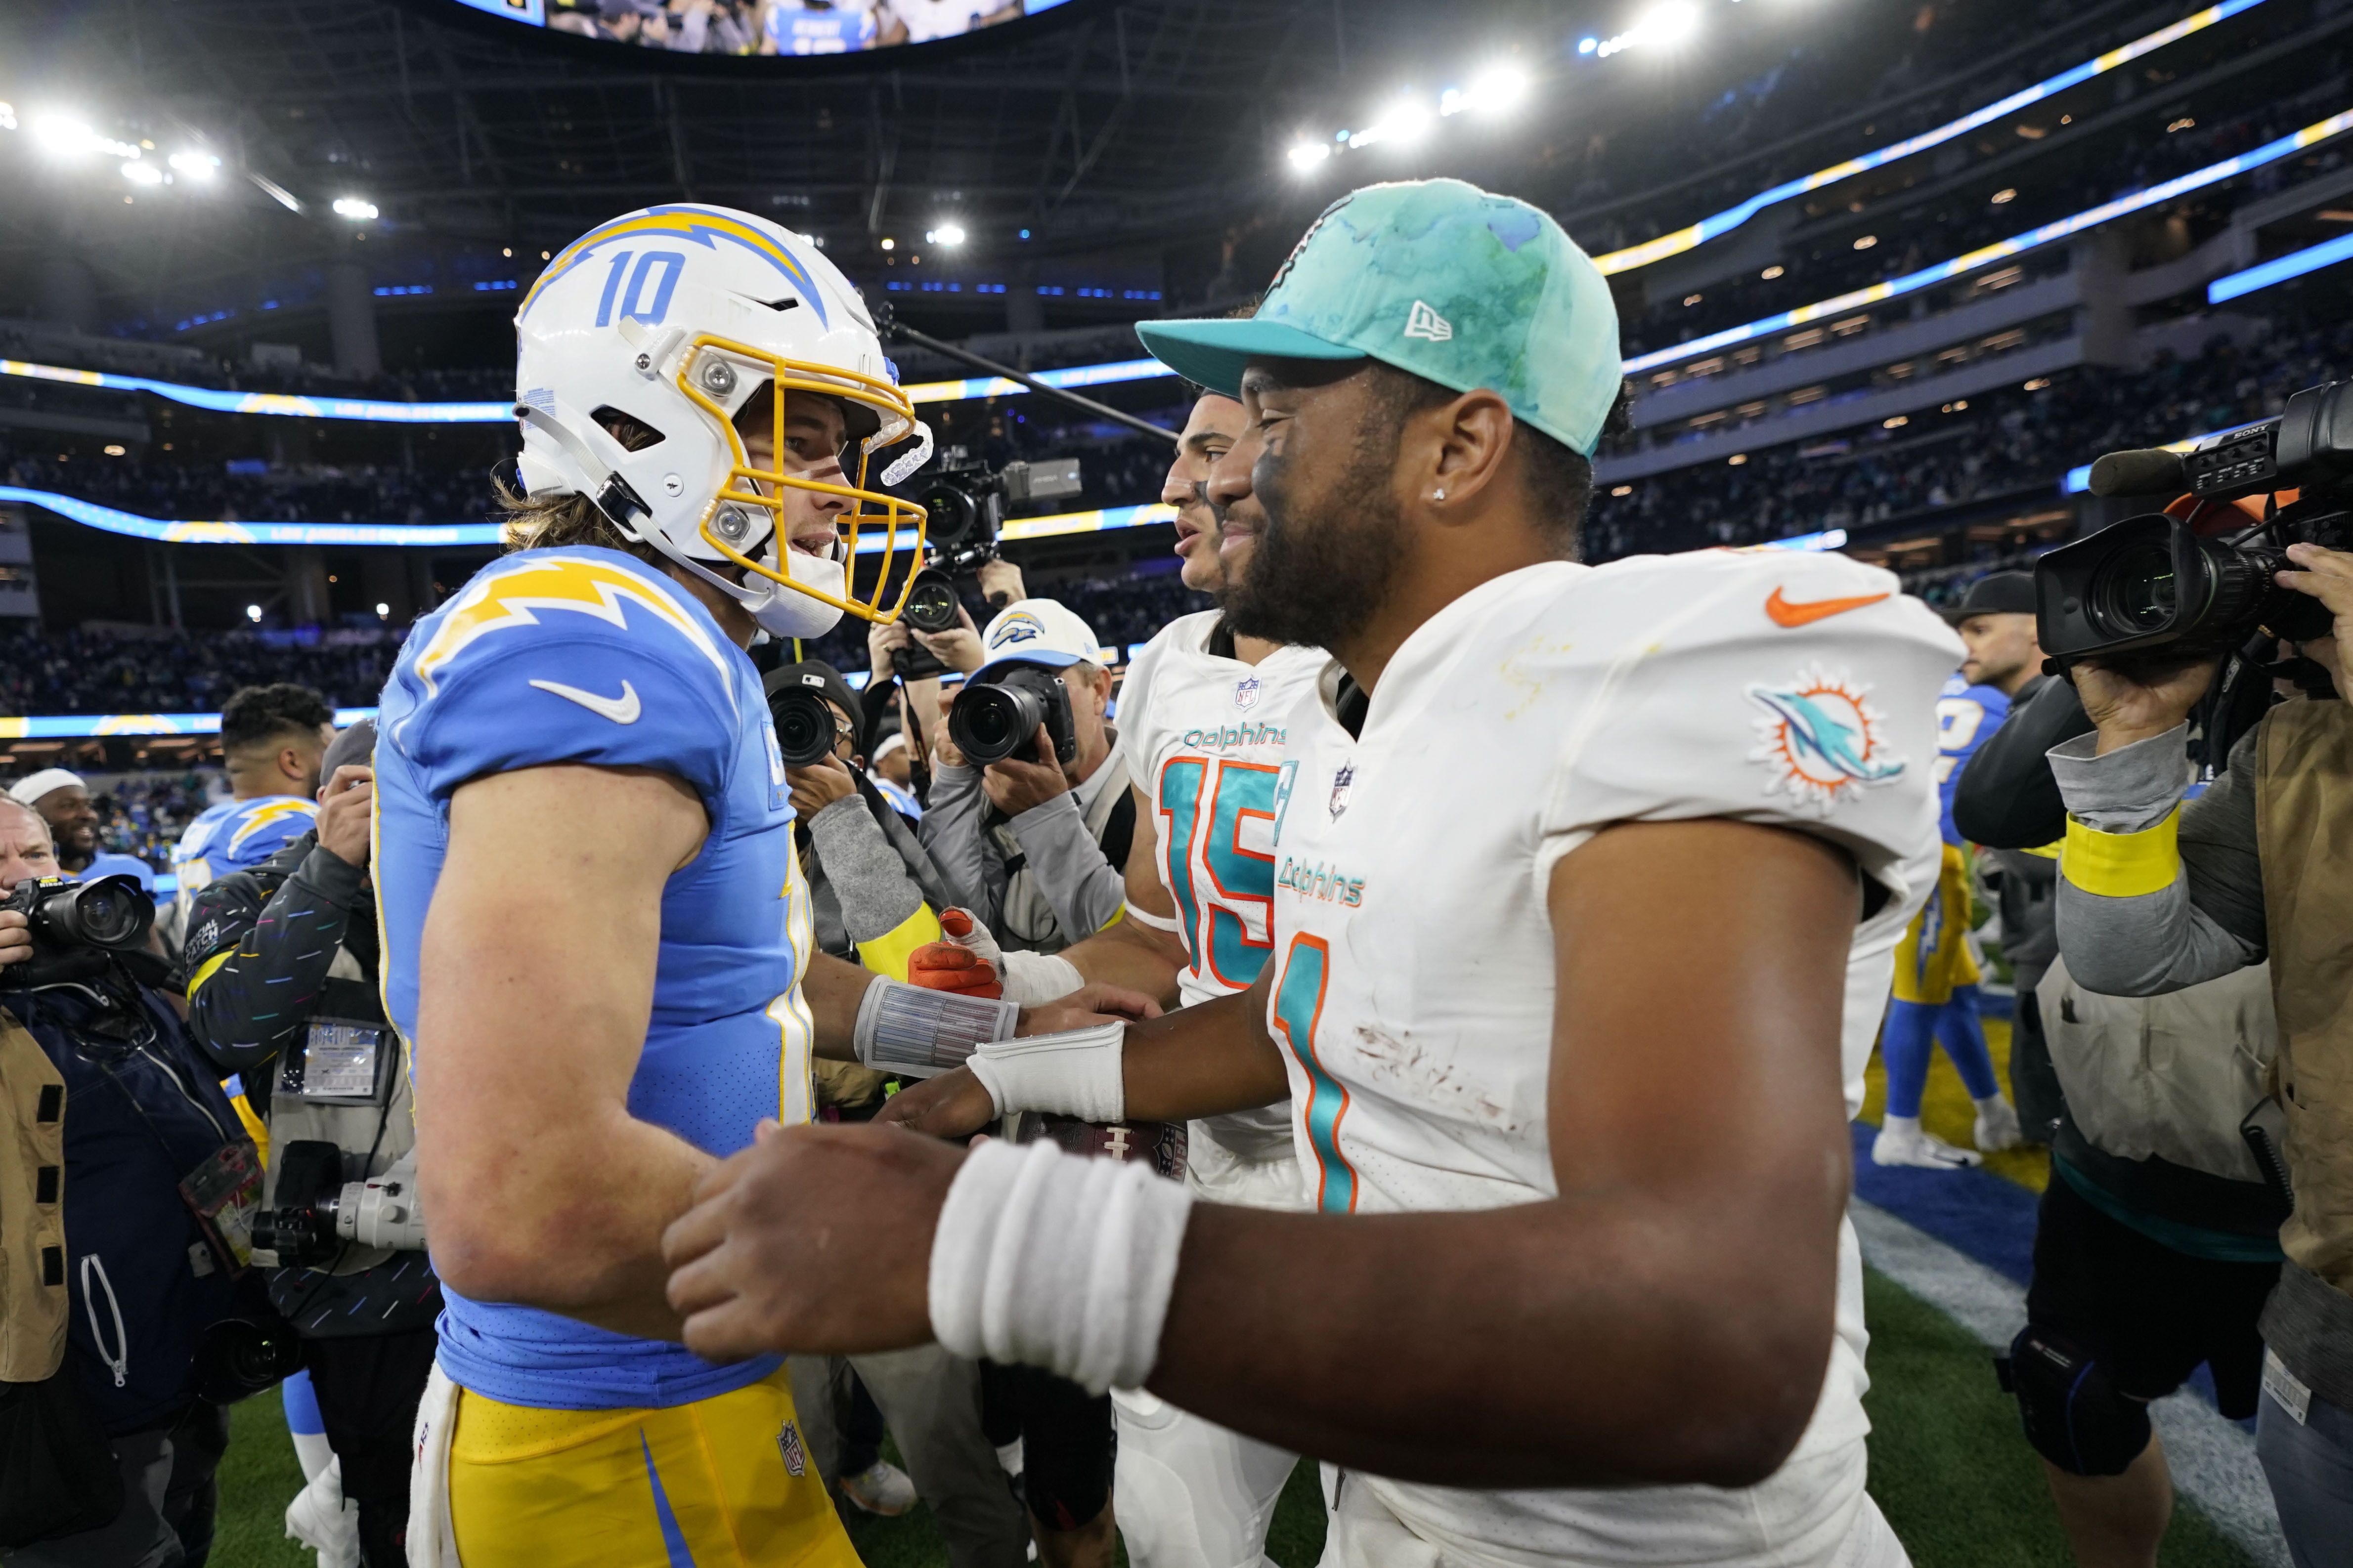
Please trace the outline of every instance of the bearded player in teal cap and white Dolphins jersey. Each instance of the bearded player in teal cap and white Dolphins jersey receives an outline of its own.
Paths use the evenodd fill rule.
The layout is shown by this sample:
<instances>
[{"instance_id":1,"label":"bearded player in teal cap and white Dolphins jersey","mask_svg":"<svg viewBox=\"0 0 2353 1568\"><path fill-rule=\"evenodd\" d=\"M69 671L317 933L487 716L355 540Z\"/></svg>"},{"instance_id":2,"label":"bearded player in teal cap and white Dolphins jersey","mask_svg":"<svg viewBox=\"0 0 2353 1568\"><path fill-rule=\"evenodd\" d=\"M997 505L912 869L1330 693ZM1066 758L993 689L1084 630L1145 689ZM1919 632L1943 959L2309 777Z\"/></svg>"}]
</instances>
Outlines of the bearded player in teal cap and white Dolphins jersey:
<instances>
[{"instance_id":1,"label":"bearded player in teal cap and white Dolphins jersey","mask_svg":"<svg viewBox=\"0 0 2353 1568\"><path fill-rule=\"evenodd\" d=\"M1144 1382L1337 1465L1329 1563L1904 1563L1864 1493L1842 1020L1937 835L1958 642L1835 555L1569 559L1617 313L1525 202L1358 190L1254 320L1144 334L1249 414L1212 480L1268 520L1238 630L1334 656L1289 715L1275 957L887 1114L1287 1095L1320 1213L795 1128L671 1227L687 1342Z\"/></svg>"}]
</instances>

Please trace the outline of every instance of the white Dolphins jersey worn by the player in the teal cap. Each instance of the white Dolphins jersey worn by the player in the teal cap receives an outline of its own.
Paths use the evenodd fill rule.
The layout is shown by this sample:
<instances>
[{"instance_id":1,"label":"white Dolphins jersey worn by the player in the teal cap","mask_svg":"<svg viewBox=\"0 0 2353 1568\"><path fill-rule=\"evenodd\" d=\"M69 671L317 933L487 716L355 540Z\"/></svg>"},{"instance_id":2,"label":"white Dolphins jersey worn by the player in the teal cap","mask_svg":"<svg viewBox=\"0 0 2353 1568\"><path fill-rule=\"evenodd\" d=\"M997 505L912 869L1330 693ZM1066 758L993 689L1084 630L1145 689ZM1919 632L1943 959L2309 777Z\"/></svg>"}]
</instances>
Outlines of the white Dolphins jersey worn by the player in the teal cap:
<instances>
[{"instance_id":1,"label":"white Dolphins jersey worn by the player in the teal cap","mask_svg":"<svg viewBox=\"0 0 2353 1568\"><path fill-rule=\"evenodd\" d=\"M1292 715L1275 797L1268 1004L1318 1206L1555 1197L1546 893L1553 865L1614 823L1734 818L1854 856L1887 891L1849 966L1842 1051L1859 1079L1885 1004L1871 983L1937 844L1937 691L1958 656L1887 571L1722 550L1482 583L1405 639L1358 736L1327 668ZM1864 1340L1847 1227L1824 1392L1765 1483L1346 1486L1468 1561L1828 1563L1864 1519Z\"/></svg>"}]
</instances>

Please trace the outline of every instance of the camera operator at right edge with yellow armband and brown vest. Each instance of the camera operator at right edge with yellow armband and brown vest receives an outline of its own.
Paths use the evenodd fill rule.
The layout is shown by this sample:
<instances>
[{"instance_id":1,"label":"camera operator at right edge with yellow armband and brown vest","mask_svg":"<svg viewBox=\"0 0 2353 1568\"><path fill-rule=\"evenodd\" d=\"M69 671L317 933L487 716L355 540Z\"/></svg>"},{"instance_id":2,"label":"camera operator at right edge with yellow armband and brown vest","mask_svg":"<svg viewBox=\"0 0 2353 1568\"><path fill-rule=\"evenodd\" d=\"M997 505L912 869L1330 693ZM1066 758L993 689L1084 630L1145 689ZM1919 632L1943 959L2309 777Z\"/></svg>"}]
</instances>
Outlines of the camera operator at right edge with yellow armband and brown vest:
<instances>
[{"instance_id":1,"label":"camera operator at right edge with yellow armband and brown vest","mask_svg":"<svg viewBox=\"0 0 2353 1568\"><path fill-rule=\"evenodd\" d=\"M2353 689L2353 555L2287 548L2275 583L2320 599L2332 630L2297 646L2299 686ZM2059 952L2118 997L2172 994L2271 964L2278 1103L2294 1213L2261 1314L2257 1455L2299 1563L2353 1540L2353 710L2273 708L2228 769L2184 802L2188 717L2214 661L2082 658L2094 733L2052 748L2066 799Z\"/></svg>"}]
</instances>

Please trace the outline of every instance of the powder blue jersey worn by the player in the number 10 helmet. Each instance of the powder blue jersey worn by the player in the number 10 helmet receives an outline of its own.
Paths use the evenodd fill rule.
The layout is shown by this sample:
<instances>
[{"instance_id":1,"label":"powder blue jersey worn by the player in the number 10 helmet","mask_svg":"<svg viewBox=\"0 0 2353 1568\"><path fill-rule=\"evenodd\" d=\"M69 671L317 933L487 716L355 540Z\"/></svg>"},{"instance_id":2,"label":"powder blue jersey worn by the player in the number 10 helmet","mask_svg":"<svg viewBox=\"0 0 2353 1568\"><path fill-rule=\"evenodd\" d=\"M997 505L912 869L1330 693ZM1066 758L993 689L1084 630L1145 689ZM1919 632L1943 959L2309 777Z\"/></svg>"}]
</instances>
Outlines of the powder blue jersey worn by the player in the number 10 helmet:
<instances>
[{"instance_id":1,"label":"powder blue jersey worn by the player in the number 10 helmet","mask_svg":"<svg viewBox=\"0 0 2353 1568\"><path fill-rule=\"evenodd\" d=\"M758 672L692 595L616 550L508 555L416 623L376 733L384 992L414 1053L438 1048L416 1037L419 945L456 790L544 764L661 769L701 797L711 837L661 896L628 1110L722 1157L760 1117L809 1119L809 914L784 759ZM612 830L626 823L581 823ZM713 1366L680 1345L445 1293L442 1368L504 1403L675 1406L776 1366Z\"/></svg>"}]
</instances>

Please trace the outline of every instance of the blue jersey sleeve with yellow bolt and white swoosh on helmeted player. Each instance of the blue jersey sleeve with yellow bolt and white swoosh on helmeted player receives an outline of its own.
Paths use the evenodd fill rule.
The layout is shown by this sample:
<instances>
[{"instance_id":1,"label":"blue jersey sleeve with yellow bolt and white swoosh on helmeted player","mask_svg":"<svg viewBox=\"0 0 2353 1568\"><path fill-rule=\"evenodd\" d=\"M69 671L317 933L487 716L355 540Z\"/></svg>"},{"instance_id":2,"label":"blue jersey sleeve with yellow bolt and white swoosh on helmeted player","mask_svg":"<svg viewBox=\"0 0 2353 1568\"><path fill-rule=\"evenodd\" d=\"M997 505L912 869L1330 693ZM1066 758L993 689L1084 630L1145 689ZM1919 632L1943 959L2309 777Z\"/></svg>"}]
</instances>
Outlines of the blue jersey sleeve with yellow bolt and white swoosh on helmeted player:
<instances>
[{"instance_id":1,"label":"blue jersey sleeve with yellow bolt and white swoosh on helmeted player","mask_svg":"<svg viewBox=\"0 0 2353 1568\"><path fill-rule=\"evenodd\" d=\"M475 578L395 682L391 731L426 795L546 764L675 773L722 813L739 731L727 661L699 607L616 559L513 557Z\"/></svg>"}]
</instances>

